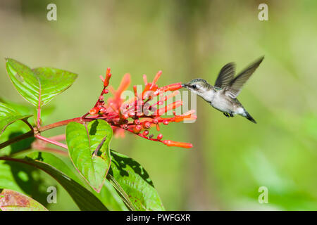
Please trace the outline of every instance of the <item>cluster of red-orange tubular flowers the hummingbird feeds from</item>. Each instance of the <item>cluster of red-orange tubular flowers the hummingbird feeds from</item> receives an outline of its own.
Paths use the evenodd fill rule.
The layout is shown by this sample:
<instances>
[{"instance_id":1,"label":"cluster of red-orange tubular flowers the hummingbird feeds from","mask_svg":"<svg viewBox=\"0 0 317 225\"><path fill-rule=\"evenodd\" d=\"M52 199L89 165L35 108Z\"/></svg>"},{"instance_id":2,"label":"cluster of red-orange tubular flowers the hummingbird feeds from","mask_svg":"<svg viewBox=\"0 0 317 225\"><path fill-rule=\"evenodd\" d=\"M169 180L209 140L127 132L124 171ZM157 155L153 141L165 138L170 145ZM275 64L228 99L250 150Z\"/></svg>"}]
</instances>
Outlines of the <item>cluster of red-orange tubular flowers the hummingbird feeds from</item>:
<instances>
[{"instance_id":1,"label":"cluster of red-orange tubular flowers the hummingbird feeds from","mask_svg":"<svg viewBox=\"0 0 317 225\"><path fill-rule=\"evenodd\" d=\"M180 83L159 87L156 82L161 74L162 72L159 71L151 83L147 82L147 75L143 75L145 87L142 93L137 93L137 86L133 86L134 97L123 102L124 99L121 98L121 94L128 89L130 75L124 75L118 90L114 90L111 86L106 89L109 84L109 79L111 78L110 68L107 68L106 77L100 76L104 82L104 89L102 89L94 108L85 115L87 116L89 114L90 116L84 117L106 120L106 122L111 124L114 133L117 135L122 135L122 131L127 130L144 139L164 143L166 146L192 148L191 143L162 140L163 134L159 134L156 138L154 138L153 134L149 134L151 127L156 127L156 130L159 131L160 124L168 125L170 122L196 120L196 116L193 115L194 110L190 110L182 115L176 115L175 111L173 111L173 117L161 117L166 112L174 110L182 105L182 101L175 101L163 108L159 108L159 105L163 105L169 98L173 98L173 96L179 94L178 89L182 88ZM113 97L108 98L108 101L106 102L104 101L104 94L108 94L109 91L111 91ZM173 93L164 96L166 91L173 91ZM154 97L159 97L159 101L150 104L150 101L153 100Z\"/></svg>"}]
</instances>

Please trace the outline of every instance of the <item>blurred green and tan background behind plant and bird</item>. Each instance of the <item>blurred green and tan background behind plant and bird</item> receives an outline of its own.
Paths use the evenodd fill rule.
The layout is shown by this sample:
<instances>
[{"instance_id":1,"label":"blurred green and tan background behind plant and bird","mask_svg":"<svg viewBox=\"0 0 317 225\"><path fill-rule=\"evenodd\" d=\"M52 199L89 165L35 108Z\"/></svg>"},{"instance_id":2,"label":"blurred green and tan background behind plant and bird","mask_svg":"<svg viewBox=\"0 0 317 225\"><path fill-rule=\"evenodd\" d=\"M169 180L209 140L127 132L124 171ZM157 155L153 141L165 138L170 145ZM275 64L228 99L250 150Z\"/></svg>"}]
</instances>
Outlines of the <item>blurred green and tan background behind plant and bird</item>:
<instances>
[{"instance_id":1,"label":"blurred green and tan background behind plant and bird","mask_svg":"<svg viewBox=\"0 0 317 225\"><path fill-rule=\"evenodd\" d=\"M57 21L46 20L49 3ZM261 3L268 21L258 19ZM115 88L125 72L142 84L144 73L151 80L158 70L160 86L197 77L213 84L225 63L237 63L239 72L264 55L239 96L258 124L228 119L199 98L196 122L163 127L164 139L191 142L191 150L131 134L111 148L147 169L166 210L317 210L316 21L313 0L1 1L0 96L24 102L5 57L79 75L51 102L49 124L86 113L107 67ZM268 204L258 202L260 186L268 188ZM47 207L77 210L61 186L58 203Z\"/></svg>"}]
</instances>

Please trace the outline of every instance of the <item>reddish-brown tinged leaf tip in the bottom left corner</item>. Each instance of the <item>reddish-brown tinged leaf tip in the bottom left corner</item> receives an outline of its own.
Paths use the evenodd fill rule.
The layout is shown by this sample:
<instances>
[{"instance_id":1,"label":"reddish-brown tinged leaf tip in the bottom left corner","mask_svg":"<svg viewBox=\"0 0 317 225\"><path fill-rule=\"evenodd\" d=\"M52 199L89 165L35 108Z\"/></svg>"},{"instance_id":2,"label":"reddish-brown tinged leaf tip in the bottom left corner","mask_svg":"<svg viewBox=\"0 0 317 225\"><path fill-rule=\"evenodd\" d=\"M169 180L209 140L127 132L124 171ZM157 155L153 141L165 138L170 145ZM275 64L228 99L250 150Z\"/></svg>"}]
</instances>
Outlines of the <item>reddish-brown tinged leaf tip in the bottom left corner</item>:
<instances>
[{"instance_id":1,"label":"reddish-brown tinged leaf tip in the bottom left corner","mask_svg":"<svg viewBox=\"0 0 317 225\"><path fill-rule=\"evenodd\" d=\"M0 209L2 211L47 211L36 200L9 189L0 189Z\"/></svg>"}]
</instances>

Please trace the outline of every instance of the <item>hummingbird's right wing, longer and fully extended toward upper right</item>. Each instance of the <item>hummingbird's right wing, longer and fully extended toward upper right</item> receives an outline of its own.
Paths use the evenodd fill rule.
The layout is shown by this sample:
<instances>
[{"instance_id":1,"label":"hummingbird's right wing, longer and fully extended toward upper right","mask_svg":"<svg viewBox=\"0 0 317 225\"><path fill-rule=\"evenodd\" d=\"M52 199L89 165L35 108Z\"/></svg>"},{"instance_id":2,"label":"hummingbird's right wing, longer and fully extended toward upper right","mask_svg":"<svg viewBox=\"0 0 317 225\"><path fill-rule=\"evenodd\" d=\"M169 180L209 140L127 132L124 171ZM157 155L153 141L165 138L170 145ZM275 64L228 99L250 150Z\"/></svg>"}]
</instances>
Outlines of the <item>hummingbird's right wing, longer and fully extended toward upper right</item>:
<instances>
[{"instance_id":1,"label":"hummingbird's right wing, longer and fully extended toward upper right","mask_svg":"<svg viewBox=\"0 0 317 225\"><path fill-rule=\"evenodd\" d=\"M259 67L263 58L264 56L259 58L259 60L256 60L256 62L252 63L248 68L240 72L240 74L237 75L235 79L232 79L230 84L228 84L228 86L225 88L225 95L230 96L231 98L237 98L237 96L240 94L242 86L251 77L256 68Z\"/></svg>"}]
</instances>

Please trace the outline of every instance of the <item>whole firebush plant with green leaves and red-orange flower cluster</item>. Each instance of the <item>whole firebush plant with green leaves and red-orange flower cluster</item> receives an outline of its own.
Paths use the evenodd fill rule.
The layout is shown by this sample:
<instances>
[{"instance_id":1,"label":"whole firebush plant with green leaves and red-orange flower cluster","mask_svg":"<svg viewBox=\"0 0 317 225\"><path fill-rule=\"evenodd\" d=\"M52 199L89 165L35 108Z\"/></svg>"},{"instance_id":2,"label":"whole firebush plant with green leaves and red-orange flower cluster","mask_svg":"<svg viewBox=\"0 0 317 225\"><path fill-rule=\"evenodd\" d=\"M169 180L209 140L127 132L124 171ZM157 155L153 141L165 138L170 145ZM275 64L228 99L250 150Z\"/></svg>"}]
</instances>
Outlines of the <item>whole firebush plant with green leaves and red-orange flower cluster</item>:
<instances>
[{"instance_id":1,"label":"whole firebush plant with green leaves and red-orange flower cluster","mask_svg":"<svg viewBox=\"0 0 317 225\"><path fill-rule=\"evenodd\" d=\"M176 115L174 110L182 101L166 104L179 94L180 83L159 87L156 82L161 71L152 82L143 75L144 89L138 93L133 86L134 95L124 101L121 96L130 85L130 75L124 75L115 90L108 86L111 70L107 68L106 76L100 76L101 94L87 113L43 126L42 120L51 111L47 106L42 110L43 106L68 89L77 75L56 68L31 69L11 58L6 59L6 70L32 108L0 99L0 210L46 210L37 200L45 203L48 193L43 197L43 191L19 186L27 179L17 174L23 172L36 180L33 175L37 169L56 179L80 210L164 210L145 169L109 145L113 135L128 132L166 146L191 148L191 143L151 134L151 129L160 131L162 124L196 119L194 110ZM112 96L106 98L109 92ZM171 111L172 117L164 116ZM32 112L35 120L29 122ZM66 134L43 136L45 131L61 126L66 126Z\"/></svg>"}]
</instances>

